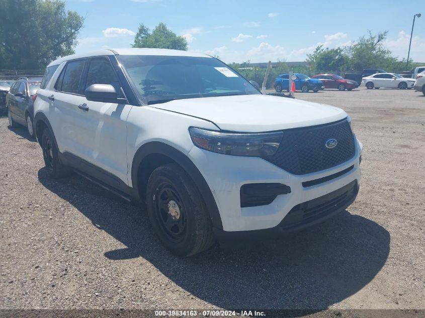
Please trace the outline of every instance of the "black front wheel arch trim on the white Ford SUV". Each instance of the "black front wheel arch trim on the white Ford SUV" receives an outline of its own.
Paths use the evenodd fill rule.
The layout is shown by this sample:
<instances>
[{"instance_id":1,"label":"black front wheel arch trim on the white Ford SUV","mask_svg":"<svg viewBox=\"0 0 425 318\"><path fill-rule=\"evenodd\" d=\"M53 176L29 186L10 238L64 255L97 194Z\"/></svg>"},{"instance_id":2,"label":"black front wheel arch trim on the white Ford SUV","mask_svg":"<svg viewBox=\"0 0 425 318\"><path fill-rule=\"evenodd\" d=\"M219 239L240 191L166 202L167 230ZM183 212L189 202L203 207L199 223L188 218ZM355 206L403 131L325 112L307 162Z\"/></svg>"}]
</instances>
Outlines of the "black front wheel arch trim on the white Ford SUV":
<instances>
[{"instance_id":1,"label":"black front wheel arch trim on the white Ford SUV","mask_svg":"<svg viewBox=\"0 0 425 318\"><path fill-rule=\"evenodd\" d=\"M172 146L154 141L142 145L136 151L131 166L134 193L145 201L146 185L152 171L163 164L173 162L181 166L195 183L205 202L213 227L222 230L223 225L217 203L205 178L184 153Z\"/></svg>"}]
</instances>

